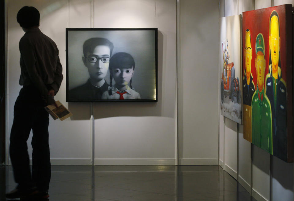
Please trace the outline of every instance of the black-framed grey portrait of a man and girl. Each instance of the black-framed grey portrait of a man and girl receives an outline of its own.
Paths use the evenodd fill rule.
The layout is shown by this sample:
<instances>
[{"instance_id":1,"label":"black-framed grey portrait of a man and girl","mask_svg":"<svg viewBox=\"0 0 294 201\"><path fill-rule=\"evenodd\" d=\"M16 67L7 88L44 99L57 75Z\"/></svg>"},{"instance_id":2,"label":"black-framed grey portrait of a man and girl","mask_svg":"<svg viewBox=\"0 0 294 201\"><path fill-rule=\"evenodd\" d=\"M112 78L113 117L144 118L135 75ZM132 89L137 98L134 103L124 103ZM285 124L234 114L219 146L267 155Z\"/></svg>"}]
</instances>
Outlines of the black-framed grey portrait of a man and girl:
<instances>
[{"instance_id":1,"label":"black-framed grey portrait of a man and girl","mask_svg":"<svg viewBox=\"0 0 294 201\"><path fill-rule=\"evenodd\" d=\"M157 102L157 31L157 28L66 28L66 102ZM106 75L96 71L98 68L102 69L100 64L105 65L105 63L103 64L100 59L102 56L98 57L94 54L97 53L95 52L96 44L101 46L99 42L97 43L99 39L91 39L86 43L87 45L84 45L85 41L90 38L106 38L113 44L108 63L111 64L112 79L110 69L107 70ZM102 46L108 46L108 42L107 45ZM110 49L111 43L108 46ZM85 56L84 53L87 55ZM96 63L93 63L93 59L95 60L91 57L93 55L96 57ZM114 55L116 56L113 57ZM126 55L131 55L135 64L135 67L132 68L134 74L130 82L124 81L124 78L119 80L122 74L117 73L119 70L123 72L126 71L123 69L129 68L122 67L130 63L131 57ZM118 69L115 67L116 70L114 70L115 65L122 66L117 67ZM106 67L103 68L105 70ZM95 69L94 73L91 69ZM126 72L131 72L131 70ZM104 75L106 84L97 89L97 86L93 86L92 83L98 83ZM125 88L119 88L122 85L118 84L117 89L115 79L118 80L118 83L127 83L126 95L116 94L115 91ZM121 96L124 97L123 100L112 99L121 98Z\"/></svg>"}]
</instances>

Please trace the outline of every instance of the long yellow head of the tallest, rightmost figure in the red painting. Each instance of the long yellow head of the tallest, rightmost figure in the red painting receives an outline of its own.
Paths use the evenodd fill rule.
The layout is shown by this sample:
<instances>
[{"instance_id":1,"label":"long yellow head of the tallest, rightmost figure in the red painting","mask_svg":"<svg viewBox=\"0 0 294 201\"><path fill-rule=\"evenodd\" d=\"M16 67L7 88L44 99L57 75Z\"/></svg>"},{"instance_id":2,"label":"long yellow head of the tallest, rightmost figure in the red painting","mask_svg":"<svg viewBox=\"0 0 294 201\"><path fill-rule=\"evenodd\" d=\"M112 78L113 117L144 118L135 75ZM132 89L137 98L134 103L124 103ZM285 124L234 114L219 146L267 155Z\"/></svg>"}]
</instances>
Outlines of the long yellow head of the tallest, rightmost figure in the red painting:
<instances>
[{"instance_id":1,"label":"long yellow head of the tallest, rightmost figure in the red painting","mask_svg":"<svg viewBox=\"0 0 294 201\"><path fill-rule=\"evenodd\" d=\"M278 77L278 65L280 58L281 38L278 13L274 10L269 18L269 49L272 62L273 77Z\"/></svg>"}]
</instances>

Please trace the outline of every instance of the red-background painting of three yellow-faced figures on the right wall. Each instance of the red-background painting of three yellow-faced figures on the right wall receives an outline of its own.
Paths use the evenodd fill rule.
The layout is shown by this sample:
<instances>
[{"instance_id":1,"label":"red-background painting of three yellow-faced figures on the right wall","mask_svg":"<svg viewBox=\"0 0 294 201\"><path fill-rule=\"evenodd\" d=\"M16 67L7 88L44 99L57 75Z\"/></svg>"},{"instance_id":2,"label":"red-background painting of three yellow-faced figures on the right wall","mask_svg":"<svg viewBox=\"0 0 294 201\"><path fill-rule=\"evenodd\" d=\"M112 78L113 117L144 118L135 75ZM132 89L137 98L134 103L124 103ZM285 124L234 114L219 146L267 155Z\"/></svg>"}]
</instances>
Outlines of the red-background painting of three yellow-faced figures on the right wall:
<instances>
[{"instance_id":1,"label":"red-background painting of three yellow-faced figures on the right wall","mask_svg":"<svg viewBox=\"0 0 294 201\"><path fill-rule=\"evenodd\" d=\"M293 161L292 5L243 12L244 139Z\"/></svg>"}]
</instances>

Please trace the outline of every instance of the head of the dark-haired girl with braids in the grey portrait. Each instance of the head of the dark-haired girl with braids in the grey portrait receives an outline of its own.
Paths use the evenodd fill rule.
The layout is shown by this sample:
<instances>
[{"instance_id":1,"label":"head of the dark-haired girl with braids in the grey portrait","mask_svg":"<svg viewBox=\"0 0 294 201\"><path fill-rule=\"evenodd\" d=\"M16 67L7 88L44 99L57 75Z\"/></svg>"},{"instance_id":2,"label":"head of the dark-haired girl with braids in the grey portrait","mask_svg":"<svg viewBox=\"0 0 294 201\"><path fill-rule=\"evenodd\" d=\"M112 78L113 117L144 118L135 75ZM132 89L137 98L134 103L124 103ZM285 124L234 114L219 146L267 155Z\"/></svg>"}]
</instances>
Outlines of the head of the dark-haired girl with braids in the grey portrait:
<instances>
[{"instance_id":1,"label":"head of the dark-haired girl with braids in the grey portrait","mask_svg":"<svg viewBox=\"0 0 294 201\"><path fill-rule=\"evenodd\" d=\"M125 52L119 52L111 57L109 64L110 86L112 87L112 78L115 86L120 91L125 91L130 83L132 89L132 77L135 72L134 58Z\"/></svg>"}]
</instances>

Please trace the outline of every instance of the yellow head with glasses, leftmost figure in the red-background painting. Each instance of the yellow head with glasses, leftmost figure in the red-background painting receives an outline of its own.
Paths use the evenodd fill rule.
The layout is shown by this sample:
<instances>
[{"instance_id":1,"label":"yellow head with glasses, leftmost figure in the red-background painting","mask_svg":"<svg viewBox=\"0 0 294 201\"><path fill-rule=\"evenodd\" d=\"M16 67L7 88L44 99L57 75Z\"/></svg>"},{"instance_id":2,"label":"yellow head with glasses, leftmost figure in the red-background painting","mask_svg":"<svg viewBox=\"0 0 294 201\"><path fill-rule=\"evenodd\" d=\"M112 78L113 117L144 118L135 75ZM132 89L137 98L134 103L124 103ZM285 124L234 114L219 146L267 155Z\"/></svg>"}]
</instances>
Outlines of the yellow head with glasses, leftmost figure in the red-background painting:
<instances>
[{"instance_id":1,"label":"yellow head with glasses, leftmost figure in the red-background painting","mask_svg":"<svg viewBox=\"0 0 294 201\"><path fill-rule=\"evenodd\" d=\"M244 56L245 56L245 66L246 66L246 78L247 84L250 83L250 75L251 75L251 59L252 59L252 48L251 48L251 34L250 30L247 29L245 31L245 49L244 49Z\"/></svg>"}]
</instances>

